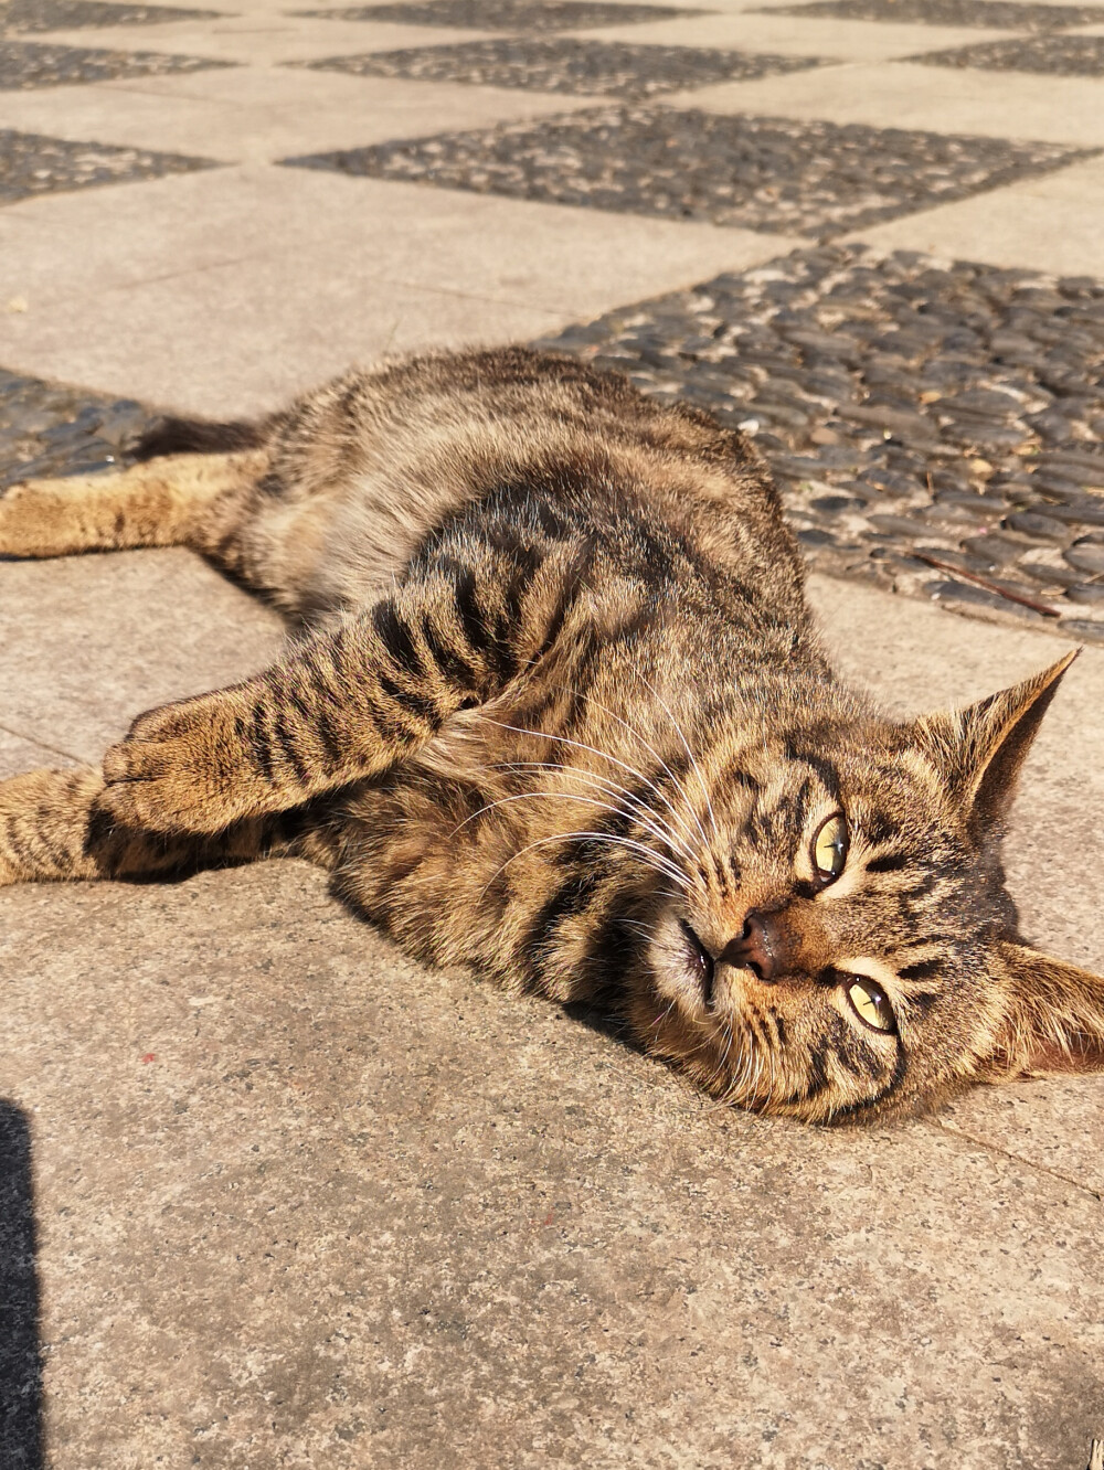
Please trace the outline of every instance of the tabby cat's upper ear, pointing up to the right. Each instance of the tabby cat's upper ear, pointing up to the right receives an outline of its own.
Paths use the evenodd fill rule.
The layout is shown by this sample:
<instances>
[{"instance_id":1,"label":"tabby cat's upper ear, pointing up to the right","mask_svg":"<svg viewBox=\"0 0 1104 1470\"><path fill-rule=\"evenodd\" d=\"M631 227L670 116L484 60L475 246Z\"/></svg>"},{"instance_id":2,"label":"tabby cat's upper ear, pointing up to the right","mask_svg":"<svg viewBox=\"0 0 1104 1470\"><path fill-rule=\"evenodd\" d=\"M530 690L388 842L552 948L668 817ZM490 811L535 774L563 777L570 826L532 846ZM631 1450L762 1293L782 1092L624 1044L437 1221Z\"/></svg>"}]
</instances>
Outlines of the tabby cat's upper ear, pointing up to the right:
<instances>
[{"instance_id":1,"label":"tabby cat's upper ear, pointing up to the right","mask_svg":"<svg viewBox=\"0 0 1104 1470\"><path fill-rule=\"evenodd\" d=\"M1073 648L1050 669L988 700L928 714L913 726L917 744L966 810L976 842L1004 816L1042 716L1079 651Z\"/></svg>"}]
</instances>

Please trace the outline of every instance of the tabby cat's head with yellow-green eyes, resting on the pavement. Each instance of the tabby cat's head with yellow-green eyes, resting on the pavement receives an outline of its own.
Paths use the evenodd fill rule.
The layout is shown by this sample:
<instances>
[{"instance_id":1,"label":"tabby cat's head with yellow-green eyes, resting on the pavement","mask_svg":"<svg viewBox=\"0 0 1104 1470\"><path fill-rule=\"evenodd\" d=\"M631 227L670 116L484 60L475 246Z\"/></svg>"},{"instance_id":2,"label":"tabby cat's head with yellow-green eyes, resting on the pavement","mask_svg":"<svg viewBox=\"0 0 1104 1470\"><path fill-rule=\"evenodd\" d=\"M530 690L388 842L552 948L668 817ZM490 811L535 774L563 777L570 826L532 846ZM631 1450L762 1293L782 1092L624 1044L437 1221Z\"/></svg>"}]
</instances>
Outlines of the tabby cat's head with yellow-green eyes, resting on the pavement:
<instances>
[{"instance_id":1,"label":"tabby cat's head with yellow-green eyes, resting on the pavement","mask_svg":"<svg viewBox=\"0 0 1104 1470\"><path fill-rule=\"evenodd\" d=\"M809 1120L1104 1070L1104 980L1019 941L998 853L1072 659L911 725L828 704L754 747L714 742L685 778L703 795L685 882L632 1001L645 1045Z\"/></svg>"}]
</instances>

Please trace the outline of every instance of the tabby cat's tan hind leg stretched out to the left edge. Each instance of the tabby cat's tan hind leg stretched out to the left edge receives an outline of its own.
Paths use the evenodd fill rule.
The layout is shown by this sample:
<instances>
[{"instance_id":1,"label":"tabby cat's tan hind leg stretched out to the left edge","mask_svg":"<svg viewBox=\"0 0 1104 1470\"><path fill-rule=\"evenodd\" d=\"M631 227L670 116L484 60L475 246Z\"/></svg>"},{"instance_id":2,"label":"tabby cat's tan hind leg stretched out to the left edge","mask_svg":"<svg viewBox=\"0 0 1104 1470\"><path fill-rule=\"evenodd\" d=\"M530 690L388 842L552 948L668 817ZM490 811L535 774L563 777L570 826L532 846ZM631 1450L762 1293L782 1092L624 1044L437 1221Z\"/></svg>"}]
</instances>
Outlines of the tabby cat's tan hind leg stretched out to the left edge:
<instances>
[{"instance_id":1,"label":"tabby cat's tan hind leg stretched out to the left edge","mask_svg":"<svg viewBox=\"0 0 1104 1470\"><path fill-rule=\"evenodd\" d=\"M209 551L268 465L265 450L169 454L113 475L31 479L0 497L0 556L190 545Z\"/></svg>"}]
</instances>

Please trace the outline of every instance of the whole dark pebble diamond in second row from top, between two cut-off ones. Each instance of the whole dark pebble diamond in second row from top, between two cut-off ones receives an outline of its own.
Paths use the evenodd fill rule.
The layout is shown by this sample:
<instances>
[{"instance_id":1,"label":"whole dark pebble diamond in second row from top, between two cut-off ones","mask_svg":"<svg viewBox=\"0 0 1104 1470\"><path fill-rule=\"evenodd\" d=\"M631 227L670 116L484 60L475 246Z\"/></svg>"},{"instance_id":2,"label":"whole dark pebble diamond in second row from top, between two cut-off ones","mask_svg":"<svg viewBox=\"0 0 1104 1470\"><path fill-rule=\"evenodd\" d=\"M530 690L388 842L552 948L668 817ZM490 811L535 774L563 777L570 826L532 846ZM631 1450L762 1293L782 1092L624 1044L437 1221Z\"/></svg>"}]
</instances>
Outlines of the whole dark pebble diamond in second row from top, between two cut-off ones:
<instances>
[{"instance_id":1,"label":"whole dark pebble diamond in second row from top, between two cut-off ones","mask_svg":"<svg viewBox=\"0 0 1104 1470\"><path fill-rule=\"evenodd\" d=\"M809 56L754 56L689 46L629 46L575 37L501 37L460 46L419 46L369 56L335 56L306 63L354 76L406 76L413 81L469 82L475 87L523 87L534 91L600 93L642 100L660 93L722 81L804 71Z\"/></svg>"}]
</instances>

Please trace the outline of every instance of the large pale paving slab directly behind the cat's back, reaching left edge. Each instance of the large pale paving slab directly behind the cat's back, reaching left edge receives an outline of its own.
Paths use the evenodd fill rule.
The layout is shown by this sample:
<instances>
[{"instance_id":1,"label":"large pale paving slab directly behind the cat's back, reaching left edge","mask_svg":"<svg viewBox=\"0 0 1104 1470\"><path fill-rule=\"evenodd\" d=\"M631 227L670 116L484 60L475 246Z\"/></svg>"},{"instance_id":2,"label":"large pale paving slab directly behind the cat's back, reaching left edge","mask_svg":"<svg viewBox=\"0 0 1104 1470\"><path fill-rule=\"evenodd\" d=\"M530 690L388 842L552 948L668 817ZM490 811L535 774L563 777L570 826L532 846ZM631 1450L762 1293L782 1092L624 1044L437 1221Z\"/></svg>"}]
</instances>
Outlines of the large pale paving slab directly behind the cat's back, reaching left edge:
<instances>
[{"instance_id":1,"label":"large pale paving slab directly behind the cat's back, reaching left edge","mask_svg":"<svg viewBox=\"0 0 1104 1470\"><path fill-rule=\"evenodd\" d=\"M306 169L200 178L13 206L41 228L12 232L26 310L0 315L0 362L253 413L384 351L544 335L792 243Z\"/></svg>"}]
</instances>

